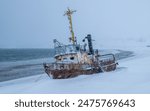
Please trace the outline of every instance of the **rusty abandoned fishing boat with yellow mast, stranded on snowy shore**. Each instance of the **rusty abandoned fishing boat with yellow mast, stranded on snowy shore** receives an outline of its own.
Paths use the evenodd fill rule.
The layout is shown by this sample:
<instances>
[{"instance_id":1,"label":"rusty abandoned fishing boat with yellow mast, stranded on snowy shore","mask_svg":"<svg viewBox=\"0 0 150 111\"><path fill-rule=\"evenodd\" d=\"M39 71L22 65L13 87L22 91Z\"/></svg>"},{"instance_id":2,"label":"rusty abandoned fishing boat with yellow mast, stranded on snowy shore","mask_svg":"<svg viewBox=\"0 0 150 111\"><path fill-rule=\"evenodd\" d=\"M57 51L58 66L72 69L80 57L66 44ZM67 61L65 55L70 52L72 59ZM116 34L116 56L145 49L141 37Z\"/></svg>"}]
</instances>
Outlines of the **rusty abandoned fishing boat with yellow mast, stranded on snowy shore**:
<instances>
[{"instance_id":1,"label":"rusty abandoned fishing boat with yellow mast, stranded on snowy shore","mask_svg":"<svg viewBox=\"0 0 150 111\"><path fill-rule=\"evenodd\" d=\"M66 79L78 75L109 72L116 69L117 62L114 54L101 55L93 48L92 37L88 34L83 39L83 45L78 44L72 27L72 11L68 8L64 15L68 16L71 37L70 44L54 42L55 62L44 63L45 72L53 79ZM86 47L88 44L88 48Z\"/></svg>"}]
</instances>

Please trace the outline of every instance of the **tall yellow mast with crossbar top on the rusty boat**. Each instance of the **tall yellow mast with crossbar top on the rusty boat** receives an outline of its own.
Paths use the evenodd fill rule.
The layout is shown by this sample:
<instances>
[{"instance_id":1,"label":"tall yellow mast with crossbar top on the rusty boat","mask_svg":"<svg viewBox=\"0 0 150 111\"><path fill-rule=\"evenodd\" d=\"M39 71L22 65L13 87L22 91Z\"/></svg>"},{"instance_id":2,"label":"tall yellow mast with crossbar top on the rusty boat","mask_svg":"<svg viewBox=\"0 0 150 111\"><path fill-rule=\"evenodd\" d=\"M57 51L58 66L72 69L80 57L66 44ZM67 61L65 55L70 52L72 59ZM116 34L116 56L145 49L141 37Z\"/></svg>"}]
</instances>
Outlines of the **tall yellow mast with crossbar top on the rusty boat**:
<instances>
[{"instance_id":1,"label":"tall yellow mast with crossbar top on the rusty boat","mask_svg":"<svg viewBox=\"0 0 150 111\"><path fill-rule=\"evenodd\" d=\"M73 25L72 25L72 14L76 12L76 10L70 10L68 8L68 10L65 12L64 16L67 15L68 16L68 20L69 20L69 29L70 29L70 33L71 33L71 37L69 38L70 41L73 43L73 44L76 44L76 38L74 36L74 31L73 31Z\"/></svg>"}]
</instances>

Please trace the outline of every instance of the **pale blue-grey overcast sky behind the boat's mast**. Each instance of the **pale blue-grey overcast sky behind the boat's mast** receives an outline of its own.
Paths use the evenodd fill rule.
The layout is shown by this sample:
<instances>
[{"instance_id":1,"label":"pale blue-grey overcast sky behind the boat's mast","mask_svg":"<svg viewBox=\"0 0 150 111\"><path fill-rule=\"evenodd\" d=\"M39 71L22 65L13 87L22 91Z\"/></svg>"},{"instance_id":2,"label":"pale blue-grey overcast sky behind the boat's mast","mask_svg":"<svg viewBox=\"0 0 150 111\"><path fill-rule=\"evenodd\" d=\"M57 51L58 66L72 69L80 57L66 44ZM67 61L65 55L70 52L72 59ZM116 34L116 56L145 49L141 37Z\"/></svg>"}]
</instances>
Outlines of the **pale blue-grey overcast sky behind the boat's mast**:
<instances>
[{"instance_id":1,"label":"pale blue-grey overcast sky behind the boat's mast","mask_svg":"<svg viewBox=\"0 0 150 111\"><path fill-rule=\"evenodd\" d=\"M150 37L150 0L0 0L0 48L49 48L67 42L70 7L75 34L104 38Z\"/></svg>"}]
</instances>

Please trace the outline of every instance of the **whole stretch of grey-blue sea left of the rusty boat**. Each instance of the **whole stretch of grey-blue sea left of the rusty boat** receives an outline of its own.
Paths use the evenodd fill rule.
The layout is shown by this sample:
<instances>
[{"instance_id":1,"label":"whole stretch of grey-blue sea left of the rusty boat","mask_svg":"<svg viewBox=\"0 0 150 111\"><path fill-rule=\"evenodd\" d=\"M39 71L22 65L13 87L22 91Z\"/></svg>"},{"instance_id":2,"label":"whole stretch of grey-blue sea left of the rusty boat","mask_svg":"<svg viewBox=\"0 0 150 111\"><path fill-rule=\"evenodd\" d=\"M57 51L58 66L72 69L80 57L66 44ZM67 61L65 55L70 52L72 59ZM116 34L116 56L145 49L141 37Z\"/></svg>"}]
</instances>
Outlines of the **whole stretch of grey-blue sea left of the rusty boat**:
<instances>
[{"instance_id":1,"label":"whole stretch of grey-blue sea left of the rusty boat","mask_svg":"<svg viewBox=\"0 0 150 111\"><path fill-rule=\"evenodd\" d=\"M0 49L0 82L43 74L53 56L53 49Z\"/></svg>"}]
</instances>

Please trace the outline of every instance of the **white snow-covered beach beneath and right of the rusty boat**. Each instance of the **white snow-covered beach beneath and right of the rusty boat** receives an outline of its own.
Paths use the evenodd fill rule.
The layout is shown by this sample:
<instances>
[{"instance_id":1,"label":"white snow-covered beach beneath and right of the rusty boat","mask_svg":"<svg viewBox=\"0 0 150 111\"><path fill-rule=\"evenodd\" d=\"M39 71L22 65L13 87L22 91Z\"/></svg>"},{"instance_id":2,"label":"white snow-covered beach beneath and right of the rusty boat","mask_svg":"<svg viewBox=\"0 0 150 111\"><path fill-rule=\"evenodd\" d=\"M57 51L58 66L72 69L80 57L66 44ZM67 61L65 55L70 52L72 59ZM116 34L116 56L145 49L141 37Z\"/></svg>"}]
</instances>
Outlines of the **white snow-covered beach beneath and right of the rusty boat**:
<instances>
[{"instance_id":1,"label":"white snow-covered beach beneath and right of the rusty boat","mask_svg":"<svg viewBox=\"0 0 150 111\"><path fill-rule=\"evenodd\" d=\"M150 93L150 47L148 47L148 42L129 40L126 42L128 45L125 45L125 42L116 41L114 48L133 51L134 56L118 60L119 65L116 71L61 80L51 79L44 73L1 82L0 93ZM109 43L101 44L101 47L111 49Z\"/></svg>"}]
</instances>

